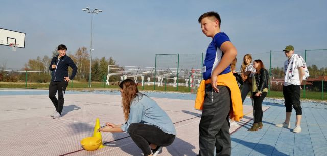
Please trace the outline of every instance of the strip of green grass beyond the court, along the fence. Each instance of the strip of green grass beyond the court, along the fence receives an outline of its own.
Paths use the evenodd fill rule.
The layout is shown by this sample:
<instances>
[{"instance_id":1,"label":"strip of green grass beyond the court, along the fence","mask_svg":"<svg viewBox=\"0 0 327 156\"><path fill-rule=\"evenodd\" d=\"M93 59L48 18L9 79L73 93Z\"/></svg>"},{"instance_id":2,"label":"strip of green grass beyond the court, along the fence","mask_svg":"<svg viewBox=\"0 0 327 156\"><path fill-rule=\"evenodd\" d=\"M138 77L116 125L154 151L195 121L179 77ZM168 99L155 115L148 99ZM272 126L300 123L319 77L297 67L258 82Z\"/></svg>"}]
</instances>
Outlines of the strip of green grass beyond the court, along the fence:
<instances>
[{"instance_id":1,"label":"strip of green grass beyond the court, along the fence","mask_svg":"<svg viewBox=\"0 0 327 156\"><path fill-rule=\"evenodd\" d=\"M9 83L9 82L0 82L0 88L29 88L29 89L48 89L49 83ZM106 89L118 89L118 85L105 85L103 82L92 82L92 90L106 90ZM73 81L68 84L67 90L88 90L88 82L77 82ZM154 90L153 85L144 85L139 86L139 90ZM176 87L173 86L155 86L156 91L170 91L170 92L191 92L190 87L186 86L178 86L178 91ZM280 91L270 91L267 97L276 97L283 98L283 92ZM313 92L313 91L301 91L302 99L313 99L313 100L323 100L327 101L327 94L323 94L321 92Z\"/></svg>"}]
</instances>

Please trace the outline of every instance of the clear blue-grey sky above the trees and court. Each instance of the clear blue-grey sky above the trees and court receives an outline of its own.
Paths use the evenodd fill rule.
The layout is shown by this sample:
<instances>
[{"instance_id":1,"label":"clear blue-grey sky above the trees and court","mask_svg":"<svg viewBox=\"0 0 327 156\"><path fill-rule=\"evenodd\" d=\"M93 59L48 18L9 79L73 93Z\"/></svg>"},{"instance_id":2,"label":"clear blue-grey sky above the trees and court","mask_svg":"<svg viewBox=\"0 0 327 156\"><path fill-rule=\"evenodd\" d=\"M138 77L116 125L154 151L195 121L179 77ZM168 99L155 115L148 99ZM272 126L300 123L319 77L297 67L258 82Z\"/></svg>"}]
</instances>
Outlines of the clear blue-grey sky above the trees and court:
<instances>
[{"instance_id":1,"label":"clear blue-grey sky above the trees and court","mask_svg":"<svg viewBox=\"0 0 327 156\"><path fill-rule=\"evenodd\" d=\"M220 14L221 31L237 48L238 60L247 53L280 53L287 45L295 51L327 49L324 0L16 0L1 3L0 28L26 33L25 48L14 52L0 45L0 64L21 69L29 59L51 56L59 44L68 55L89 48L91 14L85 7L103 10L93 14L92 57L112 57L123 66L154 67L155 54L205 53L212 39L202 33L198 18L208 11Z\"/></svg>"}]
</instances>

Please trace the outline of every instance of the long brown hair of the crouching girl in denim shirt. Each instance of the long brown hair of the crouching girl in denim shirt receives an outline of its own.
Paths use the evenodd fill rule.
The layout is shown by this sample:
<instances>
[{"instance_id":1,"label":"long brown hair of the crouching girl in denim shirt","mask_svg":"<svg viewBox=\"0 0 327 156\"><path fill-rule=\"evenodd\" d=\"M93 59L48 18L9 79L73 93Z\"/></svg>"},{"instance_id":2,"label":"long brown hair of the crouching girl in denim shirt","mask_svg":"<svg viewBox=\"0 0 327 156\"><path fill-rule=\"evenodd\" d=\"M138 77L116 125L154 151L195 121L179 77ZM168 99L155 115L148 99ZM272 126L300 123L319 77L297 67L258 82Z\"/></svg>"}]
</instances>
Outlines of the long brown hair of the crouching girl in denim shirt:
<instances>
[{"instance_id":1,"label":"long brown hair of the crouching girl in denim shirt","mask_svg":"<svg viewBox=\"0 0 327 156\"><path fill-rule=\"evenodd\" d=\"M137 84L131 79L125 79L119 84L119 87L123 90L122 107L125 121L127 121L132 100L138 96Z\"/></svg>"}]
</instances>

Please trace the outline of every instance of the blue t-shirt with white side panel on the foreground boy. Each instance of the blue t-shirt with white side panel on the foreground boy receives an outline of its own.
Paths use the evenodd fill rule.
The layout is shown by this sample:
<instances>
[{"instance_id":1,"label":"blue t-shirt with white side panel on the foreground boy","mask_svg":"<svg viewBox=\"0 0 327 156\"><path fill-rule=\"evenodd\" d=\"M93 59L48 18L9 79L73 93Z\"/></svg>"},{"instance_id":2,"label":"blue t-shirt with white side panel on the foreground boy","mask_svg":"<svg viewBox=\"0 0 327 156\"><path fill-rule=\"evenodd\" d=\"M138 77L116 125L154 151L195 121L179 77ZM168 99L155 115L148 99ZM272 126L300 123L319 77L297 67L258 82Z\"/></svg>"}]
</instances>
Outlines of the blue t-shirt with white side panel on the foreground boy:
<instances>
[{"instance_id":1,"label":"blue t-shirt with white side panel on the foreground boy","mask_svg":"<svg viewBox=\"0 0 327 156\"><path fill-rule=\"evenodd\" d=\"M217 67L224 53L221 51L220 46L226 42L230 41L229 37L222 32L217 33L211 43L208 46L205 54L205 60L203 63L203 67L205 66L205 72L203 72L203 79L210 79L213 70ZM226 74L230 72L230 65L220 73Z\"/></svg>"}]
</instances>

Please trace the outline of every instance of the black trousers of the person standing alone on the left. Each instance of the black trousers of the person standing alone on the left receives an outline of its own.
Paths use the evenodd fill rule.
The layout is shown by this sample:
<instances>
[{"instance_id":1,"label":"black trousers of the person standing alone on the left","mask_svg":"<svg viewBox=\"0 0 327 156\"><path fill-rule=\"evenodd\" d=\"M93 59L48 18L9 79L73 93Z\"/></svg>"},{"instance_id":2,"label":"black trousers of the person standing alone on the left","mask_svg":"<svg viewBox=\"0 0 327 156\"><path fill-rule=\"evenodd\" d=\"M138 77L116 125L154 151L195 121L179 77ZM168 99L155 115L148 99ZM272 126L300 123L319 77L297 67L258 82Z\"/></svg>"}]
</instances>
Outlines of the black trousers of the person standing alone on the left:
<instances>
[{"instance_id":1,"label":"black trousers of the person standing alone on the left","mask_svg":"<svg viewBox=\"0 0 327 156\"><path fill-rule=\"evenodd\" d=\"M49 98L56 107L57 112L61 114L63 103L65 101L64 95L68 82L66 81L51 81L49 85ZM58 91L58 99L56 93Z\"/></svg>"}]
</instances>

